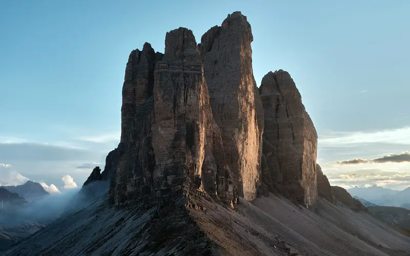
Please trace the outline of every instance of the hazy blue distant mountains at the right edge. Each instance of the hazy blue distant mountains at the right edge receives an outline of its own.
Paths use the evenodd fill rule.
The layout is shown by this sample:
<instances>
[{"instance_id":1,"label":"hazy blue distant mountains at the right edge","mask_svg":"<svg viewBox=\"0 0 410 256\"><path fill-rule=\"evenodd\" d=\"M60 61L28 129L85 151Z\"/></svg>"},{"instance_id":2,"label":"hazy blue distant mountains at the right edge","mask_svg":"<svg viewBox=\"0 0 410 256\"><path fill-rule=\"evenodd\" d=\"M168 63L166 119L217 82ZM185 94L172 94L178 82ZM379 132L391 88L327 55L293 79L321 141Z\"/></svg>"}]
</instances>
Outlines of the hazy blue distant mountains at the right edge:
<instances>
[{"instance_id":1,"label":"hazy blue distant mountains at the right edge","mask_svg":"<svg viewBox=\"0 0 410 256\"><path fill-rule=\"evenodd\" d=\"M360 201L364 200L375 205L402 207L403 204L410 204L410 187L399 191L376 185L371 187L356 186L347 189L347 191L353 197L357 197ZM367 206L365 203L363 204Z\"/></svg>"}]
</instances>

